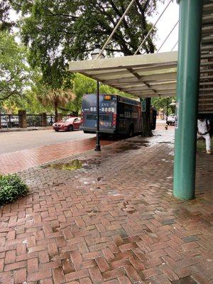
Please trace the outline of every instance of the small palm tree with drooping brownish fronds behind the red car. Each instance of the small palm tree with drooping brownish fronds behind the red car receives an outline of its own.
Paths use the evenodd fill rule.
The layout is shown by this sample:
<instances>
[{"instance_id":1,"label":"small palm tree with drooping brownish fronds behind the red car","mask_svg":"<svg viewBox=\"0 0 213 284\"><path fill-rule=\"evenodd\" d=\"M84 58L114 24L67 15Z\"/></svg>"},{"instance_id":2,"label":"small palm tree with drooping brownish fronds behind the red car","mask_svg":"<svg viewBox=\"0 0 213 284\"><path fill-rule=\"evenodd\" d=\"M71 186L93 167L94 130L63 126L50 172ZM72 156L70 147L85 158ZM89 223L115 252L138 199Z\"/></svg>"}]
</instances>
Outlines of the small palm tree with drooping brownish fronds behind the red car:
<instances>
[{"instance_id":1,"label":"small palm tree with drooping brownish fronds behind the red car","mask_svg":"<svg viewBox=\"0 0 213 284\"><path fill-rule=\"evenodd\" d=\"M38 95L38 100L44 107L52 106L55 109L55 121L58 121L58 107L65 107L72 102L76 95L71 89L48 89L45 94Z\"/></svg>"}]
</instances>

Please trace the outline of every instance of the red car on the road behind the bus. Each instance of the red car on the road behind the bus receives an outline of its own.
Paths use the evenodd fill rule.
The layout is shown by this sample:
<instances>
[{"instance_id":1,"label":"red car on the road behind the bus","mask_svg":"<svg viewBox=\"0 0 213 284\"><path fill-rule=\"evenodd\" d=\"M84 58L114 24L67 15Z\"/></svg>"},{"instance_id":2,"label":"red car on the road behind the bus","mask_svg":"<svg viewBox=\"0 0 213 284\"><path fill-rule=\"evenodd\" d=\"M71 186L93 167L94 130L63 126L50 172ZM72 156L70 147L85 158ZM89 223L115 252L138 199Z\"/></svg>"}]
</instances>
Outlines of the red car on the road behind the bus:
<instances>
[{"instance_id":1,"label":"red car on the road behind the bus","mask_svg":"<svg viewBox=\"0 0 213 284\"><path fill-rule=\"evenodd\" d=\"M65 119L62 119L62 121L55 122L55 124L53 124L53 129L55 131L73 131L79 130L80 125L80 117L66 117Z\"/></svg>"}]
</instances>

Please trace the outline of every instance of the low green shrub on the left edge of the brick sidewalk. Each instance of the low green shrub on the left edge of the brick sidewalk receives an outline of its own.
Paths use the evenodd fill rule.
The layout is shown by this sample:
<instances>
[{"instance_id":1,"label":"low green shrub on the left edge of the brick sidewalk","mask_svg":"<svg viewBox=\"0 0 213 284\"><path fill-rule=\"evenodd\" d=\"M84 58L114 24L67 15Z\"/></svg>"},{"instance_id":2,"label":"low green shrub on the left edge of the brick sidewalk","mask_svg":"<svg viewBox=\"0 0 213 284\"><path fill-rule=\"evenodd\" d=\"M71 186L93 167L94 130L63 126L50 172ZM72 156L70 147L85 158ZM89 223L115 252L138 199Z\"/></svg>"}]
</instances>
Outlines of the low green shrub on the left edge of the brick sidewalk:
<instances>
[{"instance_id":1,"label":"low green shrub on the left edge of the brick sidewalk","mask_svg":"<svg viewBox=\"0 0 213 284\"><path fill-rule=\"evenodd\" d=\"M18 175L0 175L0 205L13 202L27 192L27 185Z\"/></svg>"}]
</instances>

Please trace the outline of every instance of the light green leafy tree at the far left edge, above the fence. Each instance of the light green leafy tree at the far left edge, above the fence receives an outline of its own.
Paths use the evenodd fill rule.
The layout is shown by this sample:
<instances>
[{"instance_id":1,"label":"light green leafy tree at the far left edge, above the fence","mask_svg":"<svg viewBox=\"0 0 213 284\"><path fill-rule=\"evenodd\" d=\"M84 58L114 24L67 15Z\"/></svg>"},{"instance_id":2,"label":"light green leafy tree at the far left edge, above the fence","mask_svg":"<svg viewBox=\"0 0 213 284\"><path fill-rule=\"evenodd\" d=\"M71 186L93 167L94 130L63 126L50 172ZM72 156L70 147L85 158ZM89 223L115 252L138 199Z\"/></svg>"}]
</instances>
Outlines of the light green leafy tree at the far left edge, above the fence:
<instances>
[{"instance_id":1,"label":"light green leafy tree at the far left edge, above the fence","mask_svg":"<svg viewBox=\"0 0 213 284\"><path fill-rule=\"evenodd\" d=\"M26 48L18 45L14 35L0 31L0 102L17 99L31 81L26 62Z\"/></svg>"}]
</instances>

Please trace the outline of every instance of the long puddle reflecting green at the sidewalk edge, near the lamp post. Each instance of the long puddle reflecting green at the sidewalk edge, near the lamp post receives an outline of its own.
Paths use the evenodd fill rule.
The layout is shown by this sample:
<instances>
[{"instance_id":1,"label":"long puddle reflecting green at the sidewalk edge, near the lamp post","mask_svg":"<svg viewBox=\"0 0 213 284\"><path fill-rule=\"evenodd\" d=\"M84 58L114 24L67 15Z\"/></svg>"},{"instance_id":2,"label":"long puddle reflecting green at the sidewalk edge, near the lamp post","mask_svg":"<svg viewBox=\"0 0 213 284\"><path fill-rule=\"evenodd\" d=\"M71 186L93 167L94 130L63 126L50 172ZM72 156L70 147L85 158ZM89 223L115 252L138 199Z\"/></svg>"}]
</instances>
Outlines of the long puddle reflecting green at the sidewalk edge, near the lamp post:
<instances>
[{"instance_id":1,"label":"long puddle reflecting green at the sidewalk edge, near the lamp post","mask_svg":"<svg viewBox=\"0 0 213 284\"><path fill-rule=\"evenodd\" d=\"M42 168L52 168L55 170L79 170L81 168L89 169L100 165L101 160L71 160L69 163L57 163L42 166Z\"/></svg>"}]
</instances>

